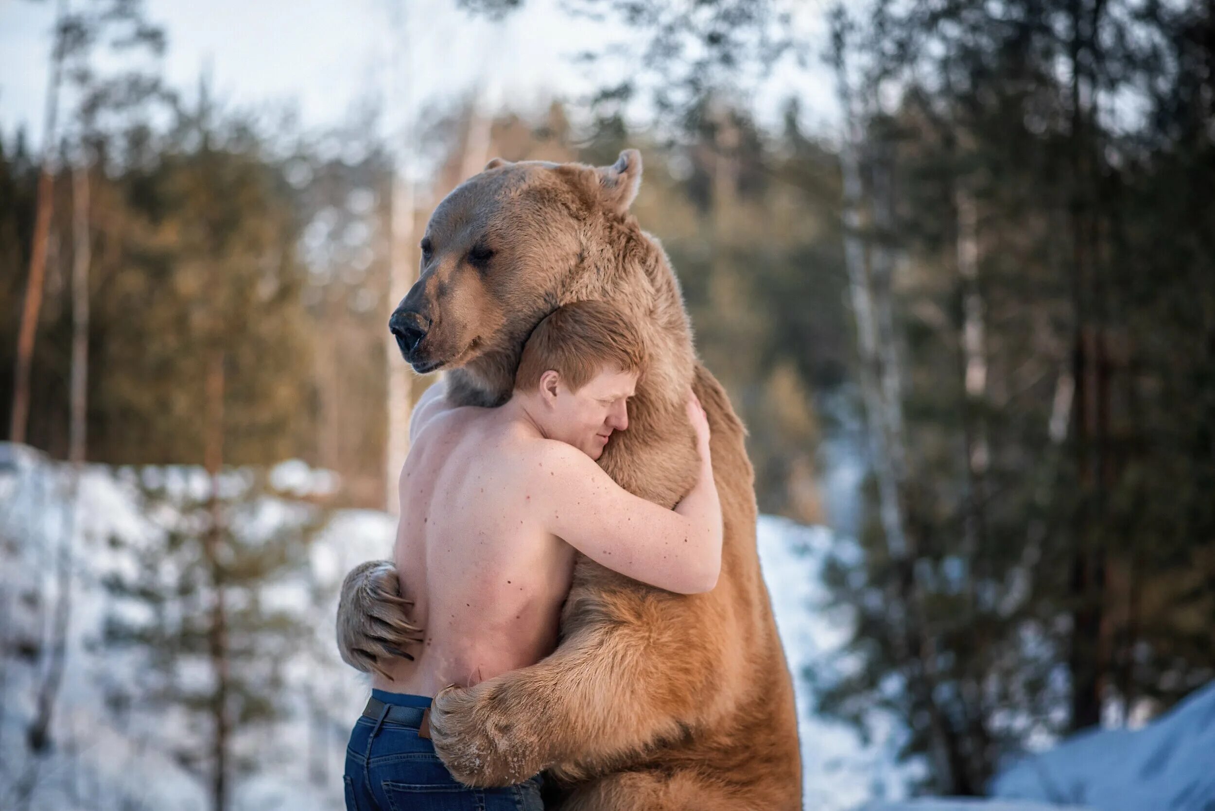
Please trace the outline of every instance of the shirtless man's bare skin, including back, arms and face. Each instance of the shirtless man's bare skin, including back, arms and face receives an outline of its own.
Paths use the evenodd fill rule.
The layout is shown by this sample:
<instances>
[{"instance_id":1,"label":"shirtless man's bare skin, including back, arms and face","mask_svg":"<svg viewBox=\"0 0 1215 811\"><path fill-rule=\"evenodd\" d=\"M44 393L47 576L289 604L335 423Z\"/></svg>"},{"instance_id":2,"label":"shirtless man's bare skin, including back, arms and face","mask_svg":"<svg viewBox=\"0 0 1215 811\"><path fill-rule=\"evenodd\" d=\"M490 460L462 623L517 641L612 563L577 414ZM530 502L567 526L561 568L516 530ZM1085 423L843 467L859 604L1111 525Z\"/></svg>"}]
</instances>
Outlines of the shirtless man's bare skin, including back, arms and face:
<instances>
[{"instance_id":1,"label":"shirtless man's bare skin, including back, arms and face","mask_svg":"<svg viewBox=\"0 0 1215 811\"><path fill-rule=\"evenodd\" d=\"M722 516L695 398L701 476L674 510L623 490L594 461L628 427L635 385L637 372L600 369L571 391L546 372L498 408L451 408L442 384L423 396L394 558L424 636L412 660L383 663L373 686L434 696L548 656L576 550L659 588L713 588Z\"/></svg>"}]
</instances>

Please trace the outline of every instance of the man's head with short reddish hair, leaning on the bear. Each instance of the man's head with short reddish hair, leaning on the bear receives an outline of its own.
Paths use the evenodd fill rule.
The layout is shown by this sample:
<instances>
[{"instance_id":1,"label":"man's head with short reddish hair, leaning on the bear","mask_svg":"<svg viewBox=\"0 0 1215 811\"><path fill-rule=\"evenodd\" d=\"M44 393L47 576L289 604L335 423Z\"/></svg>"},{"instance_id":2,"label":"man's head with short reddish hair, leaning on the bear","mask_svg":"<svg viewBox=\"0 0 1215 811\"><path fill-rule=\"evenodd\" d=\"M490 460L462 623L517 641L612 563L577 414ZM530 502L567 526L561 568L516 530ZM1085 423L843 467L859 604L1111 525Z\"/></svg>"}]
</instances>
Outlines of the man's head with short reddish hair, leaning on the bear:
<instances>
[{"instance_id":1,"label":"man's head with short reddish hair, leaning on the bear","mask_svg":"<svg viewBox=\"0 0 1215 811\"><path fill-rule=\"evenodd\" d=\"M611 305L577 301L532 331L515 373L515 396L550 439L598 459L628 427L628 398L644 361L640 331Z\"/></svg>"}]
</instances>

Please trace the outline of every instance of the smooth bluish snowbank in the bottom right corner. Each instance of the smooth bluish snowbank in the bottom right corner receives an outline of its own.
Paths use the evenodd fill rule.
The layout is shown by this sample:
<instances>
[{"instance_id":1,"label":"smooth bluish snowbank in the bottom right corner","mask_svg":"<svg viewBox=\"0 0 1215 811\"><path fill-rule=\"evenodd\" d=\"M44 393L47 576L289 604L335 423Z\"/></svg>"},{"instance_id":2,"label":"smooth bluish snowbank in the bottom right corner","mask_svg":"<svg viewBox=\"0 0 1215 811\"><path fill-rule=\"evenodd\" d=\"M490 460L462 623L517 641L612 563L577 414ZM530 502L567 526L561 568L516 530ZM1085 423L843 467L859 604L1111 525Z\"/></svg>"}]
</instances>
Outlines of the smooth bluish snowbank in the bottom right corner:
<instances>
[{"instance_id":1,"label":"smooth bluish snowbank in the bottom right corner","mask_svg":"<svg viewBox=\"0 0 1215 811\"><path fill-rule=\"evenodd\" d=\"M1215 682L1141 730L1083 732L1027 758L991 793L1095 811L1213 811Z\"/></svg>"}]
</instances>

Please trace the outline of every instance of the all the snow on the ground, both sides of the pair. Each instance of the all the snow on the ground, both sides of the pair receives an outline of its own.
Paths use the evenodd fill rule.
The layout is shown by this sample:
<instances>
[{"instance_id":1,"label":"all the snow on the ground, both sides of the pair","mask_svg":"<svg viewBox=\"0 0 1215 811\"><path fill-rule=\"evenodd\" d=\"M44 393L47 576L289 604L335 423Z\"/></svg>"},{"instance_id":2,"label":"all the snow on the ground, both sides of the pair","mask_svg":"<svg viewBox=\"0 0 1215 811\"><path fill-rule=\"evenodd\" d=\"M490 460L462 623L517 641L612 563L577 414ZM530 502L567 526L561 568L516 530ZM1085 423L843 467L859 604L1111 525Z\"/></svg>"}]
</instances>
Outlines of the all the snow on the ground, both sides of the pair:
<instances>
[{"instance_id":1,"label":"all the snow on the ground, both sides of the pair","mask_svg":"<svg viewBox=\"0 0 1215 811\"><path fill-rule=\"evenodd\" d=\"M164 469L175 486L194 488L197 471ZM324 493L334 486L299 463L277 469L283 489ZM0 443L0 646L44 642L55 594L58 539L74 527L77 565L68 667L56 714L56 748L39 762L33 810L170 807L202 811L207 787L168 753L165 736L204 735L181 714L134 707L115 713L106 696L131 682L139 660L100 645L102 623L114 608L102 585L107 572L134 566L132 550L156 526L139 509L130 471L101 465L84 469L72 521L66 467L29 448ZM267 503L250 515L255 531L288 521L287 501ZM275 585L270 599L298 611L313 637L286 663L286 715L243 742L260 772L236 781L233 809L312 811L340 807L345 739L367 696L366 677L341 664L333 639L335 594L354 565L385 556L395 520L368 510L338 511L311 546L304 579ZM111 535L131 545L114 548ZM776 624L797 686L797 710L809 811L1045 811L1042 803L1073 804L1092 811L1211 811L1215 809L1215 686L1180 704L1137 732L1081 736L1057 749L1012 766L995 784L999 799L899 801L914 771L895 762L900 728L887 718L870 719L872 743L864 745L849 727L814 715L814 696L803 677L838 664L848 635L846 614L825 607L819 573L838 543L826 529L761 517L758 550ZM40 588L39 588L40 586ZM323 596L316 596L323 595ZM19 646L18 646L19 647ZM28 647L28 646L27 646ZM28 651L27 651L28 653ZM24 731L34 711L41 662L19 650L0 658L0 807L32 765ZM143 711L141 711L143 709ZM869 805L865 805L865 804ZM1070 806L1069 806L1070 807Z\"/></svg>"}]
</instances>

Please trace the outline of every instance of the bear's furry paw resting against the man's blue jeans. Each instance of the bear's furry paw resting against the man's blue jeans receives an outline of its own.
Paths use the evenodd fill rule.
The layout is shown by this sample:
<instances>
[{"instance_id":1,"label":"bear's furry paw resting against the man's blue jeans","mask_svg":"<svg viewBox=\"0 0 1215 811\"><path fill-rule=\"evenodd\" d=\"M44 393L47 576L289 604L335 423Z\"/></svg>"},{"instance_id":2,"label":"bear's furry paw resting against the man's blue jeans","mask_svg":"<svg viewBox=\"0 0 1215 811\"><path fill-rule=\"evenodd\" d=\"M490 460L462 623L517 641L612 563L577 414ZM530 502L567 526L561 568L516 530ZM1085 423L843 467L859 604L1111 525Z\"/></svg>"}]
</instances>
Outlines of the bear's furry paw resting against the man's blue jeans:
<instances>
[{"instance_id":1,"label":"bear's furry paw resting against the man's blue jeans","mask_svg":"<svg viewBox=\"0 0 1215 811\"><path fill-rule=\"evenodd\" d=\"M515 671L518 675L525 671ZM503 676L435 696L430 737L452 776L467 786L513 786L544 769L552 735L527 680Z\"/></svg>"}]
</instances>

